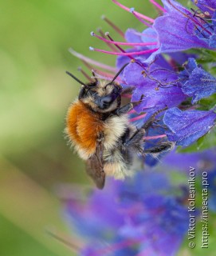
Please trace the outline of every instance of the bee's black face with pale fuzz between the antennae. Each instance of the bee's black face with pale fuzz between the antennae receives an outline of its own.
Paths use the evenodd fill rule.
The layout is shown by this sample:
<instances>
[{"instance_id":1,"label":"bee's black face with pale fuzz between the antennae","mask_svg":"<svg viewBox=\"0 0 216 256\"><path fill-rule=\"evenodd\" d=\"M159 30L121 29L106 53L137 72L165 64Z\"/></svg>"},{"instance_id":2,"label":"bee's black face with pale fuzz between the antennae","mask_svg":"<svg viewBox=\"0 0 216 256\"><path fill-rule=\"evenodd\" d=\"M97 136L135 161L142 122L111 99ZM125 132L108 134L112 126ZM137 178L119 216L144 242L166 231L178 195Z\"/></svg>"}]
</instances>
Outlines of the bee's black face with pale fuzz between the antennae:
<instances>
[{"instance_id":1,"label":"bee's black face with pale fuzz between the antennae","mask_svg":"<svg viewBox=\"0 0 216 256\"><path fill-rule=\"evenodd\" d=\"M120 97L122 87L116 82L108 83L105 80L88 83L81 88L79 99L97 108L97 110L108 110L113 102Z\"/></svg>"}]
</instances>

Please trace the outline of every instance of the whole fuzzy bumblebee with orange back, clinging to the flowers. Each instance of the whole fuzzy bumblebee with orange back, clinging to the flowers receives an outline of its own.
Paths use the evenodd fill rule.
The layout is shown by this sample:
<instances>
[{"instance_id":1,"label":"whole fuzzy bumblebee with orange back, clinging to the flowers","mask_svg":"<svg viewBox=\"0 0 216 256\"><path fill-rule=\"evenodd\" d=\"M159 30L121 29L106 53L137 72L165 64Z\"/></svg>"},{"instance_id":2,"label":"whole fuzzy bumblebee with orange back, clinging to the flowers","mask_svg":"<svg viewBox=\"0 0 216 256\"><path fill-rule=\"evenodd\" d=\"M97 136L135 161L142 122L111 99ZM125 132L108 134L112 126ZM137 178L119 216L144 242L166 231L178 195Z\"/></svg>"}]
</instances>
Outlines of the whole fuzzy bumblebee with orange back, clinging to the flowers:
<instances>
[{"instance_id":1,"label":"whole fuzzy bumblebee with orange back, clinging to the flowers","mask_svg":"<svg viewBox=\"0 0 216 256\"><path fill-rule=\"evenodd\" d=\"M124 179L133 175L135 155L160 154L171 150L172 142L163 142L150 149L144 149L143 136L155 122L156 112L139 128L129 122L128 112L142 101L121 106L124 90L116 78L124 70L125 64L112 81L98 79L84 83L69 74L81 84L78 98L69 106L66 116L65 134L77 154L86 162L87 174L103 189L105 176ZM164 109L163 109L164 110Z\"/></svg>"}]
</instances>

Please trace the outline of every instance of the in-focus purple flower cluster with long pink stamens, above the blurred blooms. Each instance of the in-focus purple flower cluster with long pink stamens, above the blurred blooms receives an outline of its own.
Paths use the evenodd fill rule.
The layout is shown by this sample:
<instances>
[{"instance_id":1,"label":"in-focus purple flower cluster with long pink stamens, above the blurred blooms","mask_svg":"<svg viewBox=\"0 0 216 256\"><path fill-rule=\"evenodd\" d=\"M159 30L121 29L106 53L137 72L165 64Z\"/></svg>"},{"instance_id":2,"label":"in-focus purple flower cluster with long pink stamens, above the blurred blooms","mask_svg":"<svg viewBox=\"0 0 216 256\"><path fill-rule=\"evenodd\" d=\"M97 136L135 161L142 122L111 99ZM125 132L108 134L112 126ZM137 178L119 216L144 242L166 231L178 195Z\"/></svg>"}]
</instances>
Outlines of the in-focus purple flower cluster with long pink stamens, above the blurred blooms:
<instances>
[{"instance_id":1,"label":"in-focus purple flower cluster with long pink stamens, above the blurred blooms","mask_svg":"<svg viewBox=\"0 0 216 256\"><path fill-rule=\"evenodd\" d=\"M198 2L202 7L204 6L210 10L203 13L204 10L206 11L204 7L204 9L200 7L201 10L197 11L193 8L187 10L186 7L174 0L163 0L164 7L159 6L155 1L151 1L162 13L162 16L155 19L139 14L133 8L129 9L116 0L112 0L112 2L115 2L124 10L130 11L135 18L148 27L142 33L134 29L128 29L124 34L108 18L104 18L127 42L116 42L108 33L103 34L101 31L101 36L92 32L92 36L106 42L112 52L92 47L91 50L118 56L116 60L118 69L125 63L132 61L121 72L117 81L124 88L134 86L132 102L139 101L140 96L144 96L139 106L135 106L137 113L146 113L141 120L142 122L145 122L155 111L162 110L165 107L168 109L179 107L181 109L189 97L192 97L192 103L194 103L216 92L216 78L203 70L202 67L197 66L194 58L189 58L185 70L180 71L178 66L179 64L182 65L191 55L190 53L183 53L183 50L200 47L210 49L209 42L213 40L212 36L214 36L216 23L214 2L207 0ZM121 46L132 48L124 50ZM118 48L118 51L115 50L115 47ZM72 52L84 62L98 65L98 62L89 60L89 58L85 58L73 50ZM99 66L105 67L100 63ZM112 71L110 66L105 68ZM99 78L104 78L104 75L100 76L99 73ZM108 74L108 79L111 79L110 74ZM168 110L164 120L171 129L170 132L167 132L168 139L178 142L178 145L190 145L214 126L214 112L212 111L203 112L202 115L202 111L196 112L194 110L190 117L192 122L185 120L187 124L184 123L184 125L187 126L187 129L181 126L182 120L177 118L176 111L177 109ZM190 111L181 113L183 116L190 115ZM171 118L171 120L168 120L168 118ZM173 120L175 123L172 123ZM198 122L205 129L202 129Z\"/></svg>"}]
</instances>

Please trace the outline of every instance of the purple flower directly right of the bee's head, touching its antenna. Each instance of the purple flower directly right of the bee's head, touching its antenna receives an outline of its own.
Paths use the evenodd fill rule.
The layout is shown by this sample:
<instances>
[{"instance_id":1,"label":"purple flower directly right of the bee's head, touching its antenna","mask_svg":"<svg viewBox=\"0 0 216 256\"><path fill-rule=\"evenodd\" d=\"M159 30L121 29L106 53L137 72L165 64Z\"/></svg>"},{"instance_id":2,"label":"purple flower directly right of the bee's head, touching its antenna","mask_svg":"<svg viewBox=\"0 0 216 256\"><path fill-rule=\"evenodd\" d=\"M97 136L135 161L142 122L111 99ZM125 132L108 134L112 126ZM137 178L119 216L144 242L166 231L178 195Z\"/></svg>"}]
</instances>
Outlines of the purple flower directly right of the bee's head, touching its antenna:
<instances>
[{"instance_id":1,"label":"purple flower directly right of the bee's head, touching its antenna","mask_svg":"<svg viewBox=\"0 0 216 256\"><path fill-rule=\"evenodd\" d=\"M126 84L135 86L132 101L138 101L140 95L144 95L142 103L135 108L138 113L178 106L186 98L178 76L162 66L152 64L147 74L143 74L141 66L131 63L125 68L123 79Z\"/></svg>"}]
</instances>

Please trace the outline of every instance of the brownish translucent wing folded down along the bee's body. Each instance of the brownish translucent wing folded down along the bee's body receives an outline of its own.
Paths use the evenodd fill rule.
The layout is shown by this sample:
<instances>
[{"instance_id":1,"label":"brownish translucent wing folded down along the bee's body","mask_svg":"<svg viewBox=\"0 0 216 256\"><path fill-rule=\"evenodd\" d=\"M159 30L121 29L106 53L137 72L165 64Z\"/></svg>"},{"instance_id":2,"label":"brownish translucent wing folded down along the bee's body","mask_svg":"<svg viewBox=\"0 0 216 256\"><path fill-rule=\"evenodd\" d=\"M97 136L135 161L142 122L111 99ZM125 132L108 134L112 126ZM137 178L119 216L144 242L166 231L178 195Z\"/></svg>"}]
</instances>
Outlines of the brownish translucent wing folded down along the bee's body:
<instances>
[{"instance_id":1,"label":"brownish translucent wing folded down along the bee's body","mask_svg":"<svg viewBox=\"0 0 216 256\"><path fill-rule=\"evenodd\" d=\"M86 161L86 172L96 183L97 188L102 190L105 184L104 162L103 162L104 142L97 142L96 152Z\"/></svg>"}]
</instances>

